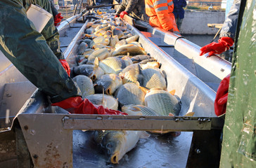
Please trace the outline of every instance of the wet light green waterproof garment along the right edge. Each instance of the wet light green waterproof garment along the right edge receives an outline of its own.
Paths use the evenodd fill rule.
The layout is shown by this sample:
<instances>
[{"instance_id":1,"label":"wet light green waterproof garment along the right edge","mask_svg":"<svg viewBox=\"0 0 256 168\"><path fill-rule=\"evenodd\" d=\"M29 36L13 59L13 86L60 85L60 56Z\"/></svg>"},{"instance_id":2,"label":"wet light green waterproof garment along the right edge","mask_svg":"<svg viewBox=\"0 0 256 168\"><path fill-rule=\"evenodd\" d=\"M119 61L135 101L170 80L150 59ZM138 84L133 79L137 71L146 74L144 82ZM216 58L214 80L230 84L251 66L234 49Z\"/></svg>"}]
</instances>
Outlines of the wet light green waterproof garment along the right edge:
<instances>
[{"instance_id":1,"label":"wet light green waterproof garment along the right edge","mask_svg":"<svg viewBox=\"0 0 256 168\"><path fill-rule=\"evenodd\" d=\"M220 167L256 167L256 0L241 1Z\"/></svg>"}]
</instances>

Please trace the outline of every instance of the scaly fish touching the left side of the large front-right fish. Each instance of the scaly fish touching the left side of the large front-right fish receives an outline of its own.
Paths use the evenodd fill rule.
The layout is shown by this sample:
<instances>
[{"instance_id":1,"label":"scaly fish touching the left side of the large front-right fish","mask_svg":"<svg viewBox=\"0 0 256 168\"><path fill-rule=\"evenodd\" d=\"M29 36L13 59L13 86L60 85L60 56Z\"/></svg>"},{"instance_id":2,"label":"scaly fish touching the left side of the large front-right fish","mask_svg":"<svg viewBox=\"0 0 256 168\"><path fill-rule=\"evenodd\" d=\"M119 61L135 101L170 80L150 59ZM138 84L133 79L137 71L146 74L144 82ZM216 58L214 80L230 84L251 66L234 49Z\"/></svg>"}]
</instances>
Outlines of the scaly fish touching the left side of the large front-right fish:
<instances>
[{"instance_id":1,"label":"scaly fish touching the left side of the large front-right fish","mask_svg":"<svg viewBox=\"0 0 256 168\"><path fill-rule=\"evenodd\" d=\"M146 88L136 85L135 83L125 83L118 87L114 93L114 97L121 107L129 104L144 105L146 92Z\"/></svg>"}]
</instances>

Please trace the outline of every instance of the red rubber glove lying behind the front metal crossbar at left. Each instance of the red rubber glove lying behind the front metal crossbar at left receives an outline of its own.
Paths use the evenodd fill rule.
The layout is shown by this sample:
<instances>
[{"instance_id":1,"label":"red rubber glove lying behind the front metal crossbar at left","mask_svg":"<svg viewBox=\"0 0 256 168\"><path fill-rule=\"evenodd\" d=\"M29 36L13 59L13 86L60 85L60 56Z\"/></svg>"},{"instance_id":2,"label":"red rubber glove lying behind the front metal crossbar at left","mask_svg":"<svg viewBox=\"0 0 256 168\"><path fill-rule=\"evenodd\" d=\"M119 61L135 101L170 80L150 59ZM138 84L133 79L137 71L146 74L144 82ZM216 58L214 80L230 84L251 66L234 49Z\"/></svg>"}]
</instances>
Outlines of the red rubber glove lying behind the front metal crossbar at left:
<instances>
[{"instance_id":1,"label":"red rubber glove lying behind the front metal crossbar at left","mask_svg":"<svg viewBox=\"0 0 256 168\"><path fill-rule=\"evenodd\" d=\"M61 102L53 103L51 106L60 106L62 109L76 114L127 115L127 113L104 108L103 106L96 107L88 99L82 99L81 97L70 97Z\"/></svg>"}]
</instances>

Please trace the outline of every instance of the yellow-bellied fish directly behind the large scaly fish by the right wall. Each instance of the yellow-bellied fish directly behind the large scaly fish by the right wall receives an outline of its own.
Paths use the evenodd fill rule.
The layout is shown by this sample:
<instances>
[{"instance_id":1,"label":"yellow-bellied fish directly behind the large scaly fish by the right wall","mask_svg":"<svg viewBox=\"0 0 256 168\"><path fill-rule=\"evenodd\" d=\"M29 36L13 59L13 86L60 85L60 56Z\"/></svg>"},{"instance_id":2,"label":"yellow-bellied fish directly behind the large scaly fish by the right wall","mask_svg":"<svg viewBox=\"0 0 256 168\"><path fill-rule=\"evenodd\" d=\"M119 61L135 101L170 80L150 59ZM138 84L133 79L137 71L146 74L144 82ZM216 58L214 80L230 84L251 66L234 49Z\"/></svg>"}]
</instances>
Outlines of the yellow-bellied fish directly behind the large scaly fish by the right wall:
<instances>
[{"instance_id":1,"label":"yellow-bellied fish directly behind the large scaly fish by the right wall","mask_svg":"<svg viewBox=\"0 0 256 168\"><path fill-rule=\"evenodd\" d=\"M141 73L143 75L141 86L148 89L155 88L166 90L167 82L165 80L165 75L161 72L160 69L143 69Z\"/></svg>"}]
</instances>

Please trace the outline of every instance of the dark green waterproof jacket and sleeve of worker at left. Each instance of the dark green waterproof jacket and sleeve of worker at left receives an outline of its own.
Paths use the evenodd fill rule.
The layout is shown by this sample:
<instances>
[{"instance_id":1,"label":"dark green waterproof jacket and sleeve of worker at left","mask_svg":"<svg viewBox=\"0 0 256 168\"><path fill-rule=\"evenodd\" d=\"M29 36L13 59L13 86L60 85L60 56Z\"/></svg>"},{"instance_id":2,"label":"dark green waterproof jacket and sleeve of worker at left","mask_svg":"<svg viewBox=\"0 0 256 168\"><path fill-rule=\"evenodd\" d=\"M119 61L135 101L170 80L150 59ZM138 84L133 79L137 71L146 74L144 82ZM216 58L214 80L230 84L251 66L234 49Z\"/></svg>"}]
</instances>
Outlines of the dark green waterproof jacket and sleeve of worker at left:
<instances>
[{"instance_id":1,"label":"dark green waterproof jacket and sleeve of worker at left","mask_svg":"<svg viewBox=\"0 0 256 168\"><path fill-rule=\"evenodd\" d=\"M53 18L40 34L27 19L30 1L0 1L0 50L28 80L49 95L52 102L81 95L58 61L64 57L59 49L59 34ZM51 13L49 0L33 3Z\"/></svg>"}]
</instances>

